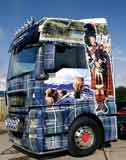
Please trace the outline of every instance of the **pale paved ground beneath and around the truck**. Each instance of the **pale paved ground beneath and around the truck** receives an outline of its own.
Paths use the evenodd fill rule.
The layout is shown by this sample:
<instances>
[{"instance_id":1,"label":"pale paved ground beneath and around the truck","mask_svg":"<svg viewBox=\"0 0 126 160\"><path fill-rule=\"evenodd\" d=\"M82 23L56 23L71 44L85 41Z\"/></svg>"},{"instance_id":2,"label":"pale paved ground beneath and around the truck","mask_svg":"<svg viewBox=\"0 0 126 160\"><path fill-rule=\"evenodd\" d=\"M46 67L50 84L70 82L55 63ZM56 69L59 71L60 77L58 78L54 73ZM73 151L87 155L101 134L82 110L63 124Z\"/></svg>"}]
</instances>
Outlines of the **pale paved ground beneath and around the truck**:
<instances>
[{"instance_id":1,"label":"pale paved ground beneath and around the truck","mask_svg":"<svg viewBox=\"0 0 126 160\"><path fill-rule=\"evenodd\" d=\"M0 160L126 160L126 139L112 142L110 147L81 158L72 157L67 151L37 158L31 156L15 149L8 140L6 130L0 129Z\"/></svg>"}]
</instances>

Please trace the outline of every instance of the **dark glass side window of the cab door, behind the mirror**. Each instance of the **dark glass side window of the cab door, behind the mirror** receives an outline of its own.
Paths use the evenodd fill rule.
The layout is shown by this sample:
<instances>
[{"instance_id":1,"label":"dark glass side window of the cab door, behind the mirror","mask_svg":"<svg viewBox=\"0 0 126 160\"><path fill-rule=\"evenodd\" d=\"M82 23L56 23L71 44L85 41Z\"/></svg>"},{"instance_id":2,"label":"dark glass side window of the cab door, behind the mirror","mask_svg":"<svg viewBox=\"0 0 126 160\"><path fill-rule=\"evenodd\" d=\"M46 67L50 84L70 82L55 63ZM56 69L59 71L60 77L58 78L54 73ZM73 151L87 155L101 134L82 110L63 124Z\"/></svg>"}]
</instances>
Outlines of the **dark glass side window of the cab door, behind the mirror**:
<instances>
[{"instance_id":1,"label":"dark glass side window of the cab door, behind the mirror","mask_svg":"<svg viewBox=\"0 0 126 160\"><path fill-rule=\"evenodd\" d=\"M56 45L55 70L61 68L86 68L86 57L83 47Z\"/></svg>"}]
</instances>

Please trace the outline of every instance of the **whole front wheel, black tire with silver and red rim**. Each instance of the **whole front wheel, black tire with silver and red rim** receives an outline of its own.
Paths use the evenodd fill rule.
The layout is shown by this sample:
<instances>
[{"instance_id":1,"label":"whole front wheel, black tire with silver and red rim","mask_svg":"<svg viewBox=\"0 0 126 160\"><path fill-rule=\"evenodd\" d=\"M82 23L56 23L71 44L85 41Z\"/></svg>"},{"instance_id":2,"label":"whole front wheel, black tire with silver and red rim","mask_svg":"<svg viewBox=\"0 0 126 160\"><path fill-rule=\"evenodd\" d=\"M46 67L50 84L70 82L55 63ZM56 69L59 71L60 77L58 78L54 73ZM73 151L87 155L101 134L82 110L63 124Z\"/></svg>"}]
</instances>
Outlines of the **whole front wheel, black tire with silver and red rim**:
<instances>
[{"instance_id":1,"label":"whole front wheel, black tire with silver and red rim","mask_svg":"<svg viewBox=\"0 0 126 160\"><path fill-rule=\"evenodd\" d=\"M76 157L90 155L100 146L102 138L97 122L88 117L79 117L70 127L68 150Z\"/></svg>"}]
</instances>

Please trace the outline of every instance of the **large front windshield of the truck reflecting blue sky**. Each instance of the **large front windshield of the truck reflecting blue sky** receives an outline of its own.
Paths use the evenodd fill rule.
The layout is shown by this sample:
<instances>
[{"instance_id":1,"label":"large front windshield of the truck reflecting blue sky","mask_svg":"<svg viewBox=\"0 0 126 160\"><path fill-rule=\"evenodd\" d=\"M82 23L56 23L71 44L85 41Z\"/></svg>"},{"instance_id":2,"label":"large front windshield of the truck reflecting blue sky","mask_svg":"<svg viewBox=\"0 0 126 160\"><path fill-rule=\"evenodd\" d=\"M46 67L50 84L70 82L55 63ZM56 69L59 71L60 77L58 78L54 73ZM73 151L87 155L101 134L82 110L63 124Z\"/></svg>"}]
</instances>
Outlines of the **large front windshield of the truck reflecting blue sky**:
<instances>
[{"instance_id":1,"label":"large front windshield of the truck reflecting blue sky","mask_svg":"<svg viewBox=\"0 0 126 160\"><path fill-rule=\"evenodd\" d=\"M9 78L32 72L35 67L38 47L24 48L11 56Z\"/></svg>"}]
</instances>

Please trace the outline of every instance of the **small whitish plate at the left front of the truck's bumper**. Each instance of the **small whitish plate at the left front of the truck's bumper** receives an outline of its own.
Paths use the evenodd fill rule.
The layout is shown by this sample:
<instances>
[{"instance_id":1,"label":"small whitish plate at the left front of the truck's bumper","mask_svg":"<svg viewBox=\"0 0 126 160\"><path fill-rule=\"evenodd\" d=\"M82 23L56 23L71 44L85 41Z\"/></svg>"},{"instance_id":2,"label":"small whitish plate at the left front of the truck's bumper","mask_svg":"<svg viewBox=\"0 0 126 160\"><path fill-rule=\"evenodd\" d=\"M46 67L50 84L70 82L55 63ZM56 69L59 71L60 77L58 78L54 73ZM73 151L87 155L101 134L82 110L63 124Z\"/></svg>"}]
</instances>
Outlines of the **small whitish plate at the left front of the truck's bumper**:
<instances>
[{"instance_id":1,"label":"small whitish plate at the left front of the truck's bumper","mask_svg":"<svg viewBox=\"0 0 126 160\"><path fill-rule=\"evenodd\" d=\"M5 126L7 129L12 130L12 131L18 131L18 127L19 127L19 119L6 119L5 120Z\"/></svg>"}]
</instances>

